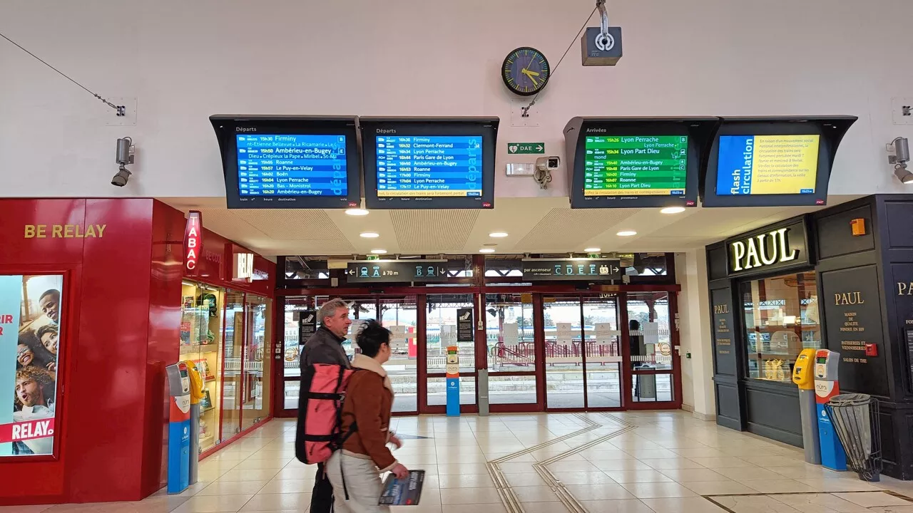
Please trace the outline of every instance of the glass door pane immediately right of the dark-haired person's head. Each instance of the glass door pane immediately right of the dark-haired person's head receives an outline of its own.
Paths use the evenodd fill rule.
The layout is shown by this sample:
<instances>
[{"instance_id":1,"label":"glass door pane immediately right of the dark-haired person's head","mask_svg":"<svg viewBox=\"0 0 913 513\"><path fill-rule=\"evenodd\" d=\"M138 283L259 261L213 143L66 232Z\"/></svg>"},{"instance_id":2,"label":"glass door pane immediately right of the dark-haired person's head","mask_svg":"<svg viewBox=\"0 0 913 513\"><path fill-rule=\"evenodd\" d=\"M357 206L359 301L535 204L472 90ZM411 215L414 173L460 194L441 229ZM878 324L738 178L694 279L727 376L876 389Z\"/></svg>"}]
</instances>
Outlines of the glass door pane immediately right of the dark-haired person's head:
<instances>
[{"instance_id":1,"label":"glass door pane immediately right of the dark-haired person's head","mask_svg":"<svg viewBox=\"0 0 913 513\"><path fill-rule=\"evenodd\" d=\"M393 354L384 364L394 385L394 414L417 414L421 392L418 380L418 299L416 296L382 297L377 303L383 327L391 330Z\"/></svg>"}]
</instances>

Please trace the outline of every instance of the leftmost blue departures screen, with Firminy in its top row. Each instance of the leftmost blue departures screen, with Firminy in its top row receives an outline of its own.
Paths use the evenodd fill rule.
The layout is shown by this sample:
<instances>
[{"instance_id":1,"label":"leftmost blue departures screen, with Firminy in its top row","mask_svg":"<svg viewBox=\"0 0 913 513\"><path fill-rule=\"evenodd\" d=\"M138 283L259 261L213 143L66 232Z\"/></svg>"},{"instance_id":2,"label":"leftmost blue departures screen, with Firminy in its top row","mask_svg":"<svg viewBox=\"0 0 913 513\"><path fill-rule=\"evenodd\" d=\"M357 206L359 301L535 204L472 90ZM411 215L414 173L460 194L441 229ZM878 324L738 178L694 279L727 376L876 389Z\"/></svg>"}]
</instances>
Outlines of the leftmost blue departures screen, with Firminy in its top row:
<instances>
[{"instance_id":1,"label":"leftmost blue departures screen, with Firminy in its top row","mask_svg":"<svg viewBox=\"0 0 913 513\"><path fill-rule=\"evenodd\" d=\"M242 196L348 194L344 135L238 135Z\"/></svg>"}]
</instances>

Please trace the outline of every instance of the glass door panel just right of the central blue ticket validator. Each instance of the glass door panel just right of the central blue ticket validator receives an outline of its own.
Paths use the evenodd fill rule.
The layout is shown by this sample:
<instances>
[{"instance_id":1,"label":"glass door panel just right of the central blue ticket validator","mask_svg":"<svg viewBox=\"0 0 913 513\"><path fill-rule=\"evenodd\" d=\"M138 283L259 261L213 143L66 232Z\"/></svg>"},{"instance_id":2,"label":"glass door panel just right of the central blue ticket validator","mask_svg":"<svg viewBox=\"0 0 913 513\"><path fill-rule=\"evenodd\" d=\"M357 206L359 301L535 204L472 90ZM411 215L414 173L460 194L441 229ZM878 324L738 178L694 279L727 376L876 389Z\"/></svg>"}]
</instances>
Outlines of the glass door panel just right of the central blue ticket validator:
<instances>
[{"instance_id":1,"label":"glass door panel just right of the central blue ticket validator","mask_svg":"<svg viewBox=\"0 0 913 513\"><path fill-rule=\"evenodd\" d=\"M536 386L537 321L532 294L487 294L485 330L488 403L494 411L533 411L540 403ZM508 404L523 405L509 408Z\"/></svg>"}]
</instances>

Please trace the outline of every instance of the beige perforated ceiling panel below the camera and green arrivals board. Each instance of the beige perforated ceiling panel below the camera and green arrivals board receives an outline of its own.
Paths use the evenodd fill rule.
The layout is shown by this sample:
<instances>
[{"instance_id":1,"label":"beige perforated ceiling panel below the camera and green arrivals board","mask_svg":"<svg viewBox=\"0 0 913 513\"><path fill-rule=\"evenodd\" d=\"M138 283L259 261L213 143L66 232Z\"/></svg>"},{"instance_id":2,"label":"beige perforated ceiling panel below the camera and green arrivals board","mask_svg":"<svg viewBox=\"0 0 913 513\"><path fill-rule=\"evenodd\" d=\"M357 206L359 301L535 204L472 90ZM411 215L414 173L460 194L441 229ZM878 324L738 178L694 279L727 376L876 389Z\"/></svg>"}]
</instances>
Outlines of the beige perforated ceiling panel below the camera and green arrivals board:
<instances>
[{"instance_id":1,"label":"beige perforated ceiling panel below the camera and green arrivals board","mask_svg":"<svg viewBox=\"0 0 913 513\"><path fill-rule=\"evenodd\" d=\"M513 250L520 253L581 251L580 246L586 241L638 212L637 208L552 208Z\"/></svg>"}]
</instances>

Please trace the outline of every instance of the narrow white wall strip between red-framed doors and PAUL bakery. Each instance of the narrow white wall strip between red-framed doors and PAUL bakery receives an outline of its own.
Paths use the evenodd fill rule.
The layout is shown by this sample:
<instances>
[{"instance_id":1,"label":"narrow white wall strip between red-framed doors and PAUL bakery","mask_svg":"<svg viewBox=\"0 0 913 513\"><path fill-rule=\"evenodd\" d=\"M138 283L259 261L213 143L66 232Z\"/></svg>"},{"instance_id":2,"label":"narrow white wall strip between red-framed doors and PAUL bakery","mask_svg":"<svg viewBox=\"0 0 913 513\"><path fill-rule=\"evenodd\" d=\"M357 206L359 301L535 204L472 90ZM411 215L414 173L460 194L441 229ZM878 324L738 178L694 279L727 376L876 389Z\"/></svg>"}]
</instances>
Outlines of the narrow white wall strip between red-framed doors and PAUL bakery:
<instances>
[{"instance_id":1,"label":"narrow white wall strip between red-framed doors and PAUL bakery","mask_svg":"<svg viewBox=\"0 0 913 513\"><path fill-rule=\"evenodd\" d=\"M713 390L707 254L703 249L676 254L679 336L681 340L682 402L702 418L713 418L717 404ZM687 358L690 353L691 358Z\"/></svg>"}]
</instances>

